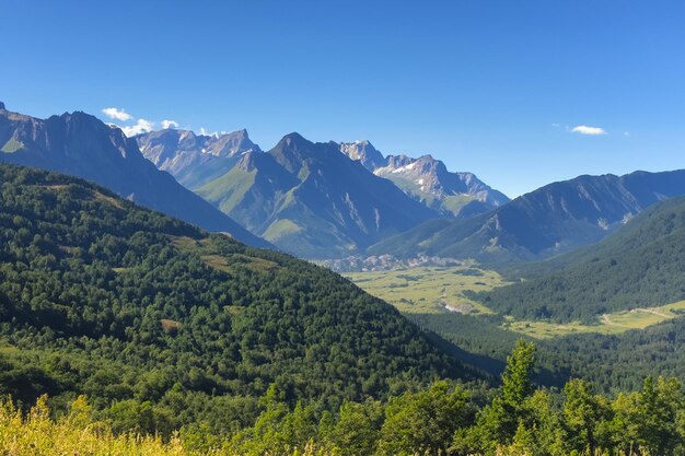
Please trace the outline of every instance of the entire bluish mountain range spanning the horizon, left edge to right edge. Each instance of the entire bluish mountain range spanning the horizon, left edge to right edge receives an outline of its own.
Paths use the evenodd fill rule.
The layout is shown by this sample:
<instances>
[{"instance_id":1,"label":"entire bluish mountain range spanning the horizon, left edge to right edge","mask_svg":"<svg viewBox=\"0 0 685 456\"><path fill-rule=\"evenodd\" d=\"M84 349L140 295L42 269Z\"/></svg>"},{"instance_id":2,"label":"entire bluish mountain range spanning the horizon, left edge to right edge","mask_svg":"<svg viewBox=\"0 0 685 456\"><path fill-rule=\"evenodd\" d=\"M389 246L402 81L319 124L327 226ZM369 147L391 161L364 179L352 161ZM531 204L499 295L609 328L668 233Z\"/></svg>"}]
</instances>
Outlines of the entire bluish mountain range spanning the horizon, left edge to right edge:
<instances>
[{"instance_id":1,"label":"entire bluish mountain range spanning the horizon, left edge to right edge","mask_svg":"<svg viewBox=\"0 0 685 456\"><path fill-rule=\"evenodd\" d=\"M0 151L1 162L83 177L206 230L314 259L537 260L601 241L685 195L685 171L636 172L579 176L508 201L471 173L430 155L384 156L369 141L290 133L264 152L245 130L127 138L81 112L37 119L4 105Z\"/></svg>"}]
</instances>

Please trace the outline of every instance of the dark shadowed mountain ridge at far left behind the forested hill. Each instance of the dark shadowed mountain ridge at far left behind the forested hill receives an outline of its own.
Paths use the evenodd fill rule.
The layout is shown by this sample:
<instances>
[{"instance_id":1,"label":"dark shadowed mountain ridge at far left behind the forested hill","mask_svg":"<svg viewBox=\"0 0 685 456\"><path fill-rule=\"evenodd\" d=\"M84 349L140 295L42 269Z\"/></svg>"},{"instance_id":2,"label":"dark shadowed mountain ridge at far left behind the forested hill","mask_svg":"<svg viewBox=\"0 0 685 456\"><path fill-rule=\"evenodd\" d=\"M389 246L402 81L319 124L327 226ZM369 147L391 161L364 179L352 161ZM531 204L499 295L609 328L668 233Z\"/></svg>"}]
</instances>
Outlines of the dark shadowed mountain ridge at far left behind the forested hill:
<instances>
[{"instance_id":1,"label":"dark shadowed mountain ridge at far left behind the forested hill","mask_svg":"<svg viewBox=\"0 0 685 456\"><path fill-rule=\"evenodd\" d=\"M206 230L229 233L253 246L271 246L156 169L120 129L88 114L37 119L0 109L0 151L1 162L93 180L141 206Z\"/></svg>"}]
</instances>

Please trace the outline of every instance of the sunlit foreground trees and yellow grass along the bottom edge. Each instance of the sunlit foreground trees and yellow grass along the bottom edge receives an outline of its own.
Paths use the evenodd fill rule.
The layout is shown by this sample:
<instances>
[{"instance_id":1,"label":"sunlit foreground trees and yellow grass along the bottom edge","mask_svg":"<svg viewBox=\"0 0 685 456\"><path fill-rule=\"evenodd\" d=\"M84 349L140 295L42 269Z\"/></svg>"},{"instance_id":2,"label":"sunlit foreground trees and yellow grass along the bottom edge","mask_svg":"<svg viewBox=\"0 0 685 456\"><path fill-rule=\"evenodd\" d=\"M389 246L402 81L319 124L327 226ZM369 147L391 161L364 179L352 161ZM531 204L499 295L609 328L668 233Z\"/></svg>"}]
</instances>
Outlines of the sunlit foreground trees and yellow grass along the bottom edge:
<instances>
[{"instance_id":1,"label":"sunlit foreground trees and yellow grass along the bottom edge","mask_svg":"<svg viewBox=\"0 0 685 456\"><path fill-rule=\"evenodd\" d=\"M638 391L597 395L582 379L561 391L531 382L535 346L519 341L501 387L477 393L445 381L387 401L344 402L335 413L288 407L269 390L255 423L221 439L202 424L169 437L114 432L88 398L50 418L46 398L22 416L0 406L3 454L53 455L680 455L685 452L683 385L645 379ZM142 416L149 412L141 410Z\"/></svg>"}]
</instances>

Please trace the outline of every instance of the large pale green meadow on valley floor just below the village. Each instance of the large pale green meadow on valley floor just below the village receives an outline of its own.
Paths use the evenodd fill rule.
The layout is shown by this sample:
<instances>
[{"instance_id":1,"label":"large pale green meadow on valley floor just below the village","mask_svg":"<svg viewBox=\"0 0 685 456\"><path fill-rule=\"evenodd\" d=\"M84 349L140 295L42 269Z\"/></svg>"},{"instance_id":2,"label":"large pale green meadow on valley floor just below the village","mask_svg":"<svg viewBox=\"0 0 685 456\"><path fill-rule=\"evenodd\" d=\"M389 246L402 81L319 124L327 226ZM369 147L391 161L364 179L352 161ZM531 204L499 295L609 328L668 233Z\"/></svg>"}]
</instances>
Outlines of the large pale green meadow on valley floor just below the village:
<instances>
[{"instance_id":1,"label":"large pale green meadow on valley floor just below the village","mask_svg":"<svg viewBox=\"0 0 685 456\"><path fill-rule=\"evenodd\" d=\"M368 293L407 314L491 314L489 308L467 299L463 292L487 291L507 283L499 273L471 265L350 272L345 276Z\"/></svg>"}]
</instances>

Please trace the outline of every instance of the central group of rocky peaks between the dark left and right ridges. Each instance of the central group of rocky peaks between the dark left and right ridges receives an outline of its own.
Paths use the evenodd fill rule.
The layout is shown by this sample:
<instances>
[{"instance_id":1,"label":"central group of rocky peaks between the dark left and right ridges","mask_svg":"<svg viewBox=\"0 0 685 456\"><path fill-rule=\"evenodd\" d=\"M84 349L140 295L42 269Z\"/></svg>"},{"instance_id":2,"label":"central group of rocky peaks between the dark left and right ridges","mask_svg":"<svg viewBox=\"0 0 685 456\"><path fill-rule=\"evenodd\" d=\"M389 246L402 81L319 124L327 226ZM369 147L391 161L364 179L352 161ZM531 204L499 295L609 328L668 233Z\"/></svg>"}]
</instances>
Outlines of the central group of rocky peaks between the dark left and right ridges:
<instances>
[{"instance_id":1,"label":"central group of rocky peaks between the dark left and right ridges","mask_svg":"<svg viewBox=\"0 0 685 456\"><path fill-rule=\"evenodd\" d=\"M136 140L160 169L306 258L357 254L427 220L472 217L508 201L471 173L450 173L429 155L384 157L369 141L314 143L291 133L262 152L245 130L164 129Z\"/></svg>"}]
</instances>

